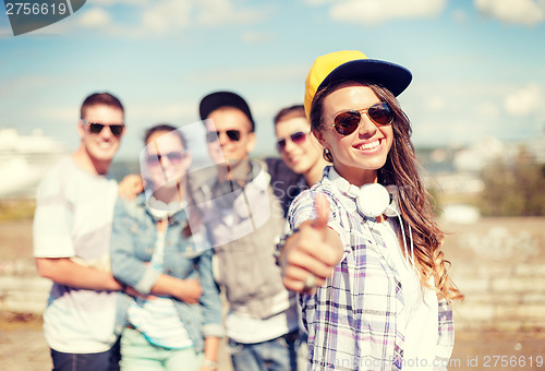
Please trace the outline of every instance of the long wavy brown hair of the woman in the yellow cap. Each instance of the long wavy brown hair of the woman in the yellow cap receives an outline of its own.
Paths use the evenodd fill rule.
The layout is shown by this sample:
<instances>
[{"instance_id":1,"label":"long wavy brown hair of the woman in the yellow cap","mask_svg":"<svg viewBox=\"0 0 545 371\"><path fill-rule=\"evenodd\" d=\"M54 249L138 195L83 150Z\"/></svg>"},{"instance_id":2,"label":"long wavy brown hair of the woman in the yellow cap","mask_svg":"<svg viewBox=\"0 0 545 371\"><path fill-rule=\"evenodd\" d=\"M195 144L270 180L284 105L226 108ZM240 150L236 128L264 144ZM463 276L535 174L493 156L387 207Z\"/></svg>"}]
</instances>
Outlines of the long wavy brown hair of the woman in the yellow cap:
<instances>
[{"instance_id":1,"label":"long wavy brown hair of the woman in the yellow cap","mask_svg":"<svg viewBox=\"0 0 545 371\"><path fill-rule=\"evenodd\" d=\"M439 299L463 299L463 294L452 283L447 272L446 265L450 266L450 262L444 259L441 251L445 232L435 220L432 196L424 189L417 171L420 165L411 142L411 123L390 91L367 82L337 81L320 89L314 96L310 115L312 130L320 131L324 129L323 109L325 98L340 85L348 82L370 87L393 111L393 121L391 123L393 143L385 165L377 170L377 177L378 182L384 185L396 184L398 187L399 208L403 220L411 226L415 265L420 273L421 284L428 286L427 279L433 276ZM404 231L403 238L407 243L410 243L409 228L405 228Z\"/></svg>"}]
</instances>

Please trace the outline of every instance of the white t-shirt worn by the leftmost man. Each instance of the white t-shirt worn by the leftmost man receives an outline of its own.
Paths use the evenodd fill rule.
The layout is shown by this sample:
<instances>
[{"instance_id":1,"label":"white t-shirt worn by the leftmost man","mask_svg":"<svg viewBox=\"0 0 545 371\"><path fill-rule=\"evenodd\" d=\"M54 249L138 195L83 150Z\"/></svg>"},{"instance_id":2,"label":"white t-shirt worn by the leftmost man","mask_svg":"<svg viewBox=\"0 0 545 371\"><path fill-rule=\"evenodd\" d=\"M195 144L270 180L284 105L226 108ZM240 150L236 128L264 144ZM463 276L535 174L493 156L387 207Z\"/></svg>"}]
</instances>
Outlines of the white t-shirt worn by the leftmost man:
<instances>
[{"instance_id":1,"label":"white t-shirt worn by the leftmost man","mask_svg":"<svg viewBox=\"0 0 545 371\"><path fill-rule=\"evenodd\" d=\"M34 256L70 258L110 270L117 183L63 158L41 180L34 216ZM48 345L58 351L101 352L116 343L116 292L53 283L44 313Z\"/></svg>"}]
</instances>

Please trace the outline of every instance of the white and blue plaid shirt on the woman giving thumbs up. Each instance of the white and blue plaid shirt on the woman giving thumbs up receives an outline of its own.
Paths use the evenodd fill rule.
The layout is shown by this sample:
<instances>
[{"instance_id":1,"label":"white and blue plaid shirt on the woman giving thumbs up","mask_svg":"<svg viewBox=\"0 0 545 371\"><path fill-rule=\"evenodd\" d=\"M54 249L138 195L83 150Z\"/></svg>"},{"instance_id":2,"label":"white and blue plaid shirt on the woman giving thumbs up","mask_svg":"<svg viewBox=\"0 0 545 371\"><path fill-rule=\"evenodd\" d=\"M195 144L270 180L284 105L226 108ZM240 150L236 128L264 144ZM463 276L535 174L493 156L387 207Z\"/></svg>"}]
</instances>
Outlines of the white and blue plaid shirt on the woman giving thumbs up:
<instances>
[{"instance_id":1,"label":"white and blue plaid shirt on the woman giving thumbs up","mask_svg":"<svg viewBox=\"0 0 545 371\"><path fill-rule=\"evenodd\" d=\"M328 226L344 247L343 259L326 284L315 295L300 296L308 332L308 369L400 370L405 323L399 316L403 310L399 276L380 253L386 248L382 236L368 227L376 222L364 223L354 200L336 187L346 180L330 168L324 175L322 182L293 201L288 216L292 229L315 218L314 196L325 194L330 204ZM438 303L438 314L434 364L441 366L450 358L455 335L452 310L446 301Z\"/></svg>"}]
</instances>

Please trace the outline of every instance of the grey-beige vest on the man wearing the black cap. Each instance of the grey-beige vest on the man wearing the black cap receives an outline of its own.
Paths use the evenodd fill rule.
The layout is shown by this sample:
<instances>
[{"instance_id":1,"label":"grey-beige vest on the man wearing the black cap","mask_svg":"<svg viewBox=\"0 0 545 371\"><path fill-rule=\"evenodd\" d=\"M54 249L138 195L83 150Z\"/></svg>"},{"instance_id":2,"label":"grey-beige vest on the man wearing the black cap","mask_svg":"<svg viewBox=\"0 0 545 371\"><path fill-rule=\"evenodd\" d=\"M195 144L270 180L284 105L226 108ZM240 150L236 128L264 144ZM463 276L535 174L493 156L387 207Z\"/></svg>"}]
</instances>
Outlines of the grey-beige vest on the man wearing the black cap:
<instances>
[{"instance_id":1,"label":"grey-beige vest on the man wearing the black cap","mask_svg":"<svg viewBox=\"0 0 545 371\"><path fill-rule=\"evenodd\" d=\"M283 308L272 306L272 299L286 291L272 255L286 219L265 164L253 165L261 170L244 188L218 196L210 191L215 184L208 183L199 190L208 201L198 203L219 262L218 284L231 311L266 319L289 308L288 300Z\"/></svg>"}]
</instances>

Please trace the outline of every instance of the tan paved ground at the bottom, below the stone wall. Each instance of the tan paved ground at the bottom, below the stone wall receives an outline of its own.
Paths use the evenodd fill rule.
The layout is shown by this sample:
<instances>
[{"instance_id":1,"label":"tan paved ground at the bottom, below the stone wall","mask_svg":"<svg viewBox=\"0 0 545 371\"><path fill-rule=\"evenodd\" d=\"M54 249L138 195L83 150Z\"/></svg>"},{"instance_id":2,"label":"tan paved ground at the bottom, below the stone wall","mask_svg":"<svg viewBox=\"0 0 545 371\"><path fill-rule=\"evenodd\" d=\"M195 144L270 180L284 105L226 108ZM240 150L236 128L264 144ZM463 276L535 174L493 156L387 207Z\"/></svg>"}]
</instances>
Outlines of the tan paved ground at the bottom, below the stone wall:
<instances>
[{"instance_id":1,"label":"tan paved ground at the bottom, below the stone wall","mask_svg":"<svg viewBox=\"0 0 545 371\"><path fill-rule=\"evenodd\" d=\"M457 333L449 370L487 369L545 370L545 333ZM5 313L0 315L0 370L51 370L39 318ZM219 371L230 370L229 359L222 351Z\"/></svg>"}]
</instances>

